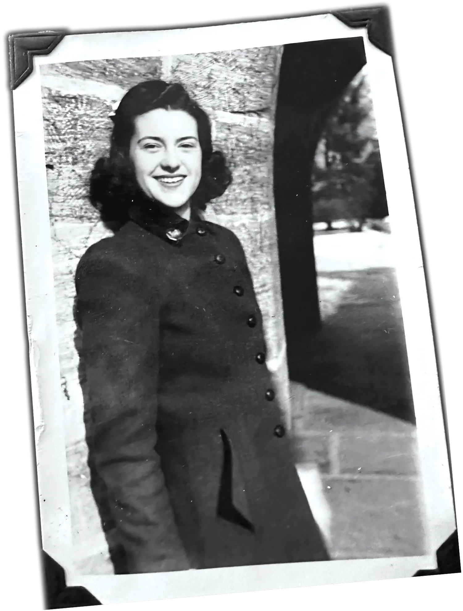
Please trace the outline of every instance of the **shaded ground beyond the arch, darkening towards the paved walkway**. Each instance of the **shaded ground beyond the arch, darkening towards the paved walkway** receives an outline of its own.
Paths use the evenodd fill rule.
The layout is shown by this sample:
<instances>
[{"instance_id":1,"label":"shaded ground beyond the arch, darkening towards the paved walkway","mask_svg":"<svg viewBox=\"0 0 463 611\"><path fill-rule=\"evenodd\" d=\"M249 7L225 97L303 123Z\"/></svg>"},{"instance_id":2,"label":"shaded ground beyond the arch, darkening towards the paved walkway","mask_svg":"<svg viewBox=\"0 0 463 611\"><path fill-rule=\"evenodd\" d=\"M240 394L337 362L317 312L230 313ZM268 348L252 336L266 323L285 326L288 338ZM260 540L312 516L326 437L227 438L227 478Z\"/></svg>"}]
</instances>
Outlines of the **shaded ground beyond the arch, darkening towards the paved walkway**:
<instances>
[{"instance_id":1,"label":"shaded ground beyond the arch, darkening towards the paved walkway","mask_svg":"<svg viewBox=\"0 0 463 611\"><path fill-rule=\"evenodd\" d=\"M321 329L289 362L310 389L415 422L395 271L370 268L319 277L349 280ZM304 357L301 358L301 354Z\"/></svg>"}]
</instances>

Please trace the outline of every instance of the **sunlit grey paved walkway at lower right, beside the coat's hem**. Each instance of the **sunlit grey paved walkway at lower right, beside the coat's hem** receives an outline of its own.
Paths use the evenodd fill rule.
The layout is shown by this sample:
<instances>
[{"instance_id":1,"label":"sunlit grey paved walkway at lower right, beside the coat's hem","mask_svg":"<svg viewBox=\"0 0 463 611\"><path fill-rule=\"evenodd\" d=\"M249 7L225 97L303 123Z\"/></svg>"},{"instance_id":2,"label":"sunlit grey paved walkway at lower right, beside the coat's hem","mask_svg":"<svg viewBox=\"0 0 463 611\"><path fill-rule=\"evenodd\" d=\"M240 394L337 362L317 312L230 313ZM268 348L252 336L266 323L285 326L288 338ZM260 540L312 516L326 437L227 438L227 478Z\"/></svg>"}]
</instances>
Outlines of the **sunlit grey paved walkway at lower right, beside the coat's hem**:
<instances>
[{"instance_id":1,"label":"sunlit grey paved walkway at lower right, beside the coat's hem","mask_svg":"<svg viewBox=\"0 0 463 611\"><path fill-rule=\"evenodd\" d=\"M423 553L415 427L291 384L297 468L334 559Z\"/></svg>"}]
</instances>

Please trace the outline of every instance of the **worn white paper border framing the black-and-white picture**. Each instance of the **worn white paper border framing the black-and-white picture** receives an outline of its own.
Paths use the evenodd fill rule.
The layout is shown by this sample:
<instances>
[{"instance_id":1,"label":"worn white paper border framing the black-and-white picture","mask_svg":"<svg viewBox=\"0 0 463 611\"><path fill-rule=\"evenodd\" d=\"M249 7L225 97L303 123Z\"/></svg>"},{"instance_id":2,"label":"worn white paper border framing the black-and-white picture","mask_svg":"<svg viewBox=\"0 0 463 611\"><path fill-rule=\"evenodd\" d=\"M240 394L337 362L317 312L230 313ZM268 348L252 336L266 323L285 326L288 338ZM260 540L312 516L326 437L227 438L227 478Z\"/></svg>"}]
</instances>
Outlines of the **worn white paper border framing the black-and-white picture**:
<instances>
[{"instance_id":1,"label":"worn white paper border framing the black-and-white picture","mask_svg":"<svg viewBox=\"0 0 463 611\"><path fill-rule=\"evenodd\" d=\"M38 67L350 37L363 37L381 150L417 421L427 554L175 573L82 576L72 562ZM34 57L33 73L13 91L13 108L43 549L65 569L67 585L86 587L102 604L111 605L397 579L410 577L418 569L436 568L436 549L455 528L454 510L425 274L391 57L370 43L364 28L352 29L332 15L167 31L67 35L48 56ZM51 474L53 477L49 477Z\"/></svg>"}]
</instances>

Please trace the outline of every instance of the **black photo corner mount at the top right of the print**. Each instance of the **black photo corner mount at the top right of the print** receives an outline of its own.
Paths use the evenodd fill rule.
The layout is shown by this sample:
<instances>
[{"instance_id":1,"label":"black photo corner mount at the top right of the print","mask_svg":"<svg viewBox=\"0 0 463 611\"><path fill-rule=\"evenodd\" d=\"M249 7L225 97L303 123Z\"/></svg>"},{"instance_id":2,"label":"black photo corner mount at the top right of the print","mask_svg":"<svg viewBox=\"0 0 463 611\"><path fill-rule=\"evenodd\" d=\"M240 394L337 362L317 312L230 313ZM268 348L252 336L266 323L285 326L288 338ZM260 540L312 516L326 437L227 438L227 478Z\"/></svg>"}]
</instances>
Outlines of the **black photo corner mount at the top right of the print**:
<instances>
[{"instance_id":1,"label":"black photo corner mount at the top right of the print","mask_svg":"<svg viewBox=\"0 0 463 611\"><path fill-rule=\"evenodd\" d=\"M392 56L392 39L385 4L348 4L329 11L349 27L366 27L368 40Z\"/></svg>"}]
</instances>

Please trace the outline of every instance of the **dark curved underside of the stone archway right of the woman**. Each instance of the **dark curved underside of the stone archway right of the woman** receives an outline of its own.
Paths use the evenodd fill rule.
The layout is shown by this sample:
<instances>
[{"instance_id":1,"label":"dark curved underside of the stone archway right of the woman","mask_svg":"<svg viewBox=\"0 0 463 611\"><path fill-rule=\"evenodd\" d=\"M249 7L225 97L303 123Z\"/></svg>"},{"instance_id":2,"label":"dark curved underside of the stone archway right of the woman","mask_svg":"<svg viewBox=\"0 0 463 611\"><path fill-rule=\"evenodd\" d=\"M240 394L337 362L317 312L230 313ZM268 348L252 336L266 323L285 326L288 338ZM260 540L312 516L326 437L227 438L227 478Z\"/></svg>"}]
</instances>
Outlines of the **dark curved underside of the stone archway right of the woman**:
<instances>
[{"instance_id":1,"label":"dark curved underside of the stone archway right of the woman","mask_svg":"<svg viewBox=\"0 0 463 611\"><path fill-rule=\"evenodd\" d=\"M311 173L326 119L366 64L363 38L286 45L275 115L274 194L290 378L305 381L305 355L320 315L313 253Z\"/></svg>"}]
</instances>

